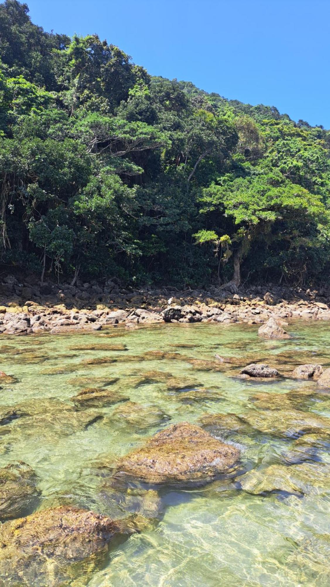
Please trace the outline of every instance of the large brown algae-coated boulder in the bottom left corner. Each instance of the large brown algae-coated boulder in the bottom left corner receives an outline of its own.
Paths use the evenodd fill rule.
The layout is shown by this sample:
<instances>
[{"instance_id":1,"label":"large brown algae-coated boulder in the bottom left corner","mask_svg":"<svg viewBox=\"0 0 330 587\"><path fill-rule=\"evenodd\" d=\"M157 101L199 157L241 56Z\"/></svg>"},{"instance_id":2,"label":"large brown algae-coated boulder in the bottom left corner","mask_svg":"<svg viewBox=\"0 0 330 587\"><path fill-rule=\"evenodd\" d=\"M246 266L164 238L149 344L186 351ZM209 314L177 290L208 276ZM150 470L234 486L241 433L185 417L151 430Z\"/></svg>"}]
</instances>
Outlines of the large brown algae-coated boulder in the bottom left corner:
<instances>
[{"instance_id":1,"label":"large brown algae-coated boulder in the bottom left corner","mask_svg":"<svg viewBox=\"0 0 330 587\"><path fill-rule=\"evenodd\" d=\"M0 526L0 584L71 583L101 566L118 522L91 511L62 506L37 511Z\"/></svg>"}]
</instances>

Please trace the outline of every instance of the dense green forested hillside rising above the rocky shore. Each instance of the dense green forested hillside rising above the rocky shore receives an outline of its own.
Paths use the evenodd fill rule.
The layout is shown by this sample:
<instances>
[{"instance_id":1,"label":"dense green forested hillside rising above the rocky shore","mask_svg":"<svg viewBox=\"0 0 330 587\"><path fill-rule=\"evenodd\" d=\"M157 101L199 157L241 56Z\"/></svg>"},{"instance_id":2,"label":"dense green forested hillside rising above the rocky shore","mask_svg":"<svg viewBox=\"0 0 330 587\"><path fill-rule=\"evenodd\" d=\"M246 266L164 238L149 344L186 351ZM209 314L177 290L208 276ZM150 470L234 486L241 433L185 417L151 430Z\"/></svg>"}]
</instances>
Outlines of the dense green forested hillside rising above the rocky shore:
<instances>
[{"instance_id":1,"label":"dense green forested hillside rising above the rocky shore","mask_svg":"<svg viewBox=\"0 0 330 587\"><path fill-rule=\"evenodd\" d=\"M329 131L150 77L28 12L0 5L3 268L177 287L328 279Z\"/></svg>"}]
</instances>

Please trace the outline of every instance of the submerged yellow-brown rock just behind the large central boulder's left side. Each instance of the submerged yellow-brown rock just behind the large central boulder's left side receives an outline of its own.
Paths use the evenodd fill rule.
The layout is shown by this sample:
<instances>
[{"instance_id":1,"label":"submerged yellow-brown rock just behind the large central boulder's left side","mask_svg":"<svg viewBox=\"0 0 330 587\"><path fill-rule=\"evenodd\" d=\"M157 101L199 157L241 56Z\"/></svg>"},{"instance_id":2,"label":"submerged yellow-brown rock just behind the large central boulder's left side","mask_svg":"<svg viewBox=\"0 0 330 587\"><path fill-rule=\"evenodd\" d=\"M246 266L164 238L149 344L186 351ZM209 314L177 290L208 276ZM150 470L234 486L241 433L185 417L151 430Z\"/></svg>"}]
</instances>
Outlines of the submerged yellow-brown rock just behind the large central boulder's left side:
<instances>
[{"instance_id":1,"label":"submerged yellow-brown rock just behind the large central boulder's left side","mask_svg":"<svg viewBox=\"0 0 330 587\"><path fill-rule=\"evenodd\" d=\"M110 420L117 420L121 424L129 424L137 429L146 429L170 420L170 416L154 404L125 402L115 408ZM106 423L107 420L104 421L104 424Z\"/></svg>"}]
</instances>

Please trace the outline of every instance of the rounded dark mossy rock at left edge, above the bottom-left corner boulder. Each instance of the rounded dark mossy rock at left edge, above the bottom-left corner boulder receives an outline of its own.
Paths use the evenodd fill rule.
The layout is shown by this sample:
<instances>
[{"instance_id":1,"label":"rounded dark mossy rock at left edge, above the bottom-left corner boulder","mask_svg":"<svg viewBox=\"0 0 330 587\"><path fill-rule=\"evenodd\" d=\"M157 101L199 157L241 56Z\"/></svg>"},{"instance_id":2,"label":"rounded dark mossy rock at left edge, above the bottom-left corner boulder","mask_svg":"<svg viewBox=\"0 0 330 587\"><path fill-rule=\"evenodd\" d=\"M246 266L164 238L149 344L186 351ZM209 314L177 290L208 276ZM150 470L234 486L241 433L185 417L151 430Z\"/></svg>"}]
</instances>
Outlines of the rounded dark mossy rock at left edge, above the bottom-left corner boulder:
<instances>
[{"instance_id":1,"label":"rounded dark mossy rock at left edge, above the bottom-left corner boulder","mask_svg":"<svg viewBox=\"0 0 330 587\"><path fill-rule=\"evenodd\" d=\"M35 471L22 461L0 469L1 520L19 518L36 508L40 495L37 481Z\"/></svg>"}]
</instances>

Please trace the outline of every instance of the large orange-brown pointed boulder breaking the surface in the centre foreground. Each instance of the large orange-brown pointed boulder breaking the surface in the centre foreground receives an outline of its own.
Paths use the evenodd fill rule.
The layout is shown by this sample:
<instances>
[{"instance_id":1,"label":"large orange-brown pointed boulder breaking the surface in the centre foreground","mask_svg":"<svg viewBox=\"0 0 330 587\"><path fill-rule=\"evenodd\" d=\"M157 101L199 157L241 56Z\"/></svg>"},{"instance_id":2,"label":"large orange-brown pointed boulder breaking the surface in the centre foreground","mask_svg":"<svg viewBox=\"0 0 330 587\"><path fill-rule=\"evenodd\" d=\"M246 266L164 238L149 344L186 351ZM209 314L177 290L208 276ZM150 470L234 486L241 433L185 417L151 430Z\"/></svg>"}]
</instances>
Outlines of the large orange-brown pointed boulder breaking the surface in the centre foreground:
<instances>
[{"instance_id":1,"label":"large orange-brown pointed boulder breaking the surface in the centre foreground","mask_svg":"<svg viewBox=\"0 0 330 587\"><path fill-rule=\"evenodd\" d=\"M155 434L146 445L123 457L117 474L148 483L207 483L228 473L238 448L220 442L199 426L182 422Z\"/></svg>"}]
</instances>

